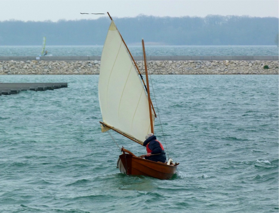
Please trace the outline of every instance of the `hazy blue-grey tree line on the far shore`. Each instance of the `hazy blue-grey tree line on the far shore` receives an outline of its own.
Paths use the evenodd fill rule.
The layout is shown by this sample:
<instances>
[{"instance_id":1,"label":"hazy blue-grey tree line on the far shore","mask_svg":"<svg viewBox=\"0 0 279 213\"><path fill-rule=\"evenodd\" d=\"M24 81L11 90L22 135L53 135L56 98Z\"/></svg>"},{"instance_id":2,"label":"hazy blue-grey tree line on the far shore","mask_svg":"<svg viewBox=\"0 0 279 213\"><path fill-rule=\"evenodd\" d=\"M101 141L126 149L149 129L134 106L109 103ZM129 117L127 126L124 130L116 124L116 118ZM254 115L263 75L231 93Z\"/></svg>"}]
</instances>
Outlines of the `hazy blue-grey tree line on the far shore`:
<instances>
[{"instance_id":1,"label":"hazy blue-grey tree line on the far shore","mask_svg":"<svg viewBox=\"0 0 279 213\"><path fill-rule=\"evenodd\" d=\"M125 42L139 45L278 45L275 17L219 16L114 18ZM2 21L0 45L103 45L109 17L96 20Z\"/></svg>"}]
</instances>

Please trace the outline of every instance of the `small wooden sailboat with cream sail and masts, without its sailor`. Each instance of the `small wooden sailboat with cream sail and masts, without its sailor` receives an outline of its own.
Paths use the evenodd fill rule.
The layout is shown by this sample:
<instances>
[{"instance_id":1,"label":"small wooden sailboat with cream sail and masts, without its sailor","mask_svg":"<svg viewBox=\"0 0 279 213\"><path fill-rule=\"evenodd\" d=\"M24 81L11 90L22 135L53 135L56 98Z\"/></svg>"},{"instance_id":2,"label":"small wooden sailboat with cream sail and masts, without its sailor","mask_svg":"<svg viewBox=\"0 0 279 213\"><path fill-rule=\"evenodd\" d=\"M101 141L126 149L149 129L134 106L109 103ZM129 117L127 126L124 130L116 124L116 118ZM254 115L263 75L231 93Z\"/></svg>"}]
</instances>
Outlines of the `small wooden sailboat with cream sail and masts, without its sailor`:
<instances>
[{"instance_id":1,"label":"small wooden sailboat with cream sail and masts, without its sailor","mask_svg":"<svg viewBox=\"0 0 279 213\"><path fill-rule=\"evenodd\" d=\"M109 15L109 13L108 13ZM111 16L109 15L111 18ZM143 145L145 136L154 133L156 117L149 93L144 40L142 39L146 84L130 54L127 45L111 18L103 46L99 75L99 102L103 121L102 132L110 129L131 141ZM176 173L176 164L169 165L135 156L121 149L117 166L127 175L145 175L170 179Z\"/></svg>"}]
</instances>

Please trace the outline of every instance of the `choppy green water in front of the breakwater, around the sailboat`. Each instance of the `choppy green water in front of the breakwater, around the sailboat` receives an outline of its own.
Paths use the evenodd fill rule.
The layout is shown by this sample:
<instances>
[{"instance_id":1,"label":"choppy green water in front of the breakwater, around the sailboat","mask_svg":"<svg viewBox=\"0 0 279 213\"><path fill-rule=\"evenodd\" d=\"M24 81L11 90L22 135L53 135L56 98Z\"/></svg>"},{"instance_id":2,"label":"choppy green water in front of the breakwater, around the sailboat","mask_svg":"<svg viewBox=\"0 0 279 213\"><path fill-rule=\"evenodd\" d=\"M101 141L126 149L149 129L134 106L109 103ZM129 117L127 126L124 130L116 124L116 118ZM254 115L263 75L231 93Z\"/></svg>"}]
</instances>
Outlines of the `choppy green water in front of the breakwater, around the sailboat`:
<instances>
[{"instance_id":1,"label":"choppy green water in front of the breakwater, around the sailboat","mask_svg":"<svg viewBox=\"0 0 279 213\"><path fill-rule=\"evenodd\" d=\"M278 75L152 76L172 180L119 174L98 75L0 82L68 82L0 96L0 212L278 212Z\"/></svg>"}]
</instances>

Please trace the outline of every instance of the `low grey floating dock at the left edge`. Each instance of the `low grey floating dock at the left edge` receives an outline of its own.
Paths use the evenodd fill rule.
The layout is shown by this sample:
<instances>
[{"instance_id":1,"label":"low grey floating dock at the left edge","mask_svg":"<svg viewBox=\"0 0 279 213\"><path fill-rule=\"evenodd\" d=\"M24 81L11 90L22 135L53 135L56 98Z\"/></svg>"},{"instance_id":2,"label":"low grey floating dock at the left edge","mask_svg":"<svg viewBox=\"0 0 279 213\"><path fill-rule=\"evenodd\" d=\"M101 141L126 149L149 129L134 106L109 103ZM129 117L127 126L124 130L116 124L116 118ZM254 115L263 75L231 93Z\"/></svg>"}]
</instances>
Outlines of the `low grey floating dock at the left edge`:
<instances>
[{"instance_id":1,"label":"low grey floating dock at the left edge","mask_svg":"<svg viewBox=\"0 0 279 213\"><path fill-rule=\"evenodd\" d=\"M68 87L68 83L0 83L0 95L17 94L20 91L45 91Z\"/></svg>"}]
</instances>

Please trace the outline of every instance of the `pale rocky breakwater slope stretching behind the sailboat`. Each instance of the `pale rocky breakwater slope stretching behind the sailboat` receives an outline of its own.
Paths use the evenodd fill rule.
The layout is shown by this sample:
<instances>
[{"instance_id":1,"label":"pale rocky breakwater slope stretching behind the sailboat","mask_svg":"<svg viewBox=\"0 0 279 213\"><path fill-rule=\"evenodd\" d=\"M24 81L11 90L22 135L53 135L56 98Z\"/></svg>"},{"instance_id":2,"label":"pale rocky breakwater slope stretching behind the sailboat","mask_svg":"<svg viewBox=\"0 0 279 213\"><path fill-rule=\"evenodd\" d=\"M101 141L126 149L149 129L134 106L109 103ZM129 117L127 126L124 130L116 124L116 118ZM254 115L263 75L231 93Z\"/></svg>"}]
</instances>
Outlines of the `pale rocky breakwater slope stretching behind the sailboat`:
<instances>
[{"instance_id":1,"label":"pale rocky breakwater slope stretching behind the sailboat","mask_svg":"<svg viewBox=\"0 0 279 213\"><path fill-rule=\"evenodd\" d=\"M143 62L136 62L140 70ZM278 74L278 61L149 61L151 74ZM0 61L0 75L95 75L100 61Z\"/></svg>"}]
</instances>

